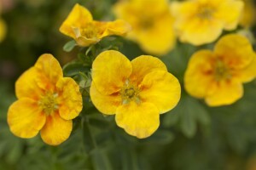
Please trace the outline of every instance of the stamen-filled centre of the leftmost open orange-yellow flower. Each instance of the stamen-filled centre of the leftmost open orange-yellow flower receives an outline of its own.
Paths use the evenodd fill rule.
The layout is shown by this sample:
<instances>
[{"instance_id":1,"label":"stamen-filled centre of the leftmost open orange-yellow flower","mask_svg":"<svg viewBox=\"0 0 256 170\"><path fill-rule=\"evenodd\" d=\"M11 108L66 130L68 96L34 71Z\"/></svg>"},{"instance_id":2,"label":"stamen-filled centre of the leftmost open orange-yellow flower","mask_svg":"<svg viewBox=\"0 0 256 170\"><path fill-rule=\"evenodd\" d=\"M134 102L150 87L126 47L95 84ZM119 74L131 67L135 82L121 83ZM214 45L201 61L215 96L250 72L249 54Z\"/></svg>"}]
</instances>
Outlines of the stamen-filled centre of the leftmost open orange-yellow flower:
<instances>
[{"instance_id":1,"label":"stamen-filled centre of the leftmost open orange-yellow flower","mask_svg":"<svg viewBox=\"0 0 256 170\"><path fill-rule=\"evenodd\" d=\"M58 94L46 93L39 100L38 103L46 115L50 115L52 112L58 109L58 103L56 101L57 97Z\"/></svg>"}]
</instances>

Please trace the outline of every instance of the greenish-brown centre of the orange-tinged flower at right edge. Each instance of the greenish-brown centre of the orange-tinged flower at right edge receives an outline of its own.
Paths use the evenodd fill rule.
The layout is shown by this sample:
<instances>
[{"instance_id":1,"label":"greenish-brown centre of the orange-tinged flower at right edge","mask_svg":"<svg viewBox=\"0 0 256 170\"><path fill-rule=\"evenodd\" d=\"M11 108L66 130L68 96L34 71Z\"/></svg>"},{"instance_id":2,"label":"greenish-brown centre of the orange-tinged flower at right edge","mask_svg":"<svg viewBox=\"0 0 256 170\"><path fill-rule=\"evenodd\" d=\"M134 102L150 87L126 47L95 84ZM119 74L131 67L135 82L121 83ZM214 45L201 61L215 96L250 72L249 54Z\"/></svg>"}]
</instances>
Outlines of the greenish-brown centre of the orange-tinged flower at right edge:
<instances>
[{"instance_id":1,"label":"greenish-brown centre of the orange-tinged flower at right edge","mask_svg":"<svg viewBox=\"0 0 256 170\"><path fill-rule=\"evenodd\" d=\"M224 65L224 62L221 60L217 60L214 65L214 76L217 82L223 79L230 79L230 69Z\"/></svg>"}]
</instances>

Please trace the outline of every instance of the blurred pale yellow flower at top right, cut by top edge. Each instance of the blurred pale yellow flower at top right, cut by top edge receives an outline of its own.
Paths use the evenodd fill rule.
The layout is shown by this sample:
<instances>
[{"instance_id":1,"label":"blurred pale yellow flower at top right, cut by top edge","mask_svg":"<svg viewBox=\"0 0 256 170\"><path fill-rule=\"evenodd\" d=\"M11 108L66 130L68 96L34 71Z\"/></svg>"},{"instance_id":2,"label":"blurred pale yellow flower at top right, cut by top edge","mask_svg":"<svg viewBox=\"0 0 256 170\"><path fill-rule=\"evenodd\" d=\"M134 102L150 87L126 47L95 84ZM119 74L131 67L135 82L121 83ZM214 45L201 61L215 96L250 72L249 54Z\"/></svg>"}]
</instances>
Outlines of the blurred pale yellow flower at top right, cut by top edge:
<instances>
[{"instance_id":1,"label":"blurred pale yellow flower at top right, cut by top edge","mask_svg":"<svg viewBox=\"0 0 256 170\"><path fill-rule=\"evenodd\" d=\"M242 8L240 0L187 0L172 3L178 37L181 42L193 45L213 42L222 30L236 29Z\"/></svg>"}]
</instances>

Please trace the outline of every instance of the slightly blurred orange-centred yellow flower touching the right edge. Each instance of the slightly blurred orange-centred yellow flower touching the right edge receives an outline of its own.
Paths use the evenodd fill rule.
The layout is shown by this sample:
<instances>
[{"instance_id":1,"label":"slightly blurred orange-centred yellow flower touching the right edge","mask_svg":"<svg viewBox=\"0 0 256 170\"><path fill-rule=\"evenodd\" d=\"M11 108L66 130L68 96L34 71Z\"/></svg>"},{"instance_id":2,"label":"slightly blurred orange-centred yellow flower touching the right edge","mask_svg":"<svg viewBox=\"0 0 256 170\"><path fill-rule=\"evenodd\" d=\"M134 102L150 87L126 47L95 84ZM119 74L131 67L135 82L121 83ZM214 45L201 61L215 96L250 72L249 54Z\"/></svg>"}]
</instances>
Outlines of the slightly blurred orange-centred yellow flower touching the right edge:
<instances>
[{"instance_id":1,"label":"slightly blurred orange-centred yellow flower touching the right edge","mask_svg":"<svg viewBox=\"0 0 256 170\"><path fill-rule=\"evenodd\" d=\"M256 76L256 54L246 37L222 37L213 52L193 54L185 72L184 85L189 94L205 99L207 105L230 105L243 95L243 82Z\"/></svg>"}]
</instances>

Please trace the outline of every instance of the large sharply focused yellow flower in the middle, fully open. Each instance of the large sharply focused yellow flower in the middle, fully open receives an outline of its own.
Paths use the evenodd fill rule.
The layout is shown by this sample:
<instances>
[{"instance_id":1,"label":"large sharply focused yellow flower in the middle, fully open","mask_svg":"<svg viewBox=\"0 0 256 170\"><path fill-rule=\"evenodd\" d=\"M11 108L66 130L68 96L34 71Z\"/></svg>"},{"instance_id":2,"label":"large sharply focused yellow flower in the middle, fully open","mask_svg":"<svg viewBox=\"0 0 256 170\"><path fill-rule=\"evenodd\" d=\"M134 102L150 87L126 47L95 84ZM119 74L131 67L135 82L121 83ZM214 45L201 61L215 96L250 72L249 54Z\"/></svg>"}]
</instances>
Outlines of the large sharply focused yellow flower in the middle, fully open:
<instances>
[{"instance_id":1,"label":"large sharply focused yellow flower in the middle, fully open","mask_svg":"<svg viewBox=\"0 0 256 170\"><path fill-rule=\"evenodd\" d=\"M96 108L126 133L139 139L160 125L160 114L172 110L180 99L177 78L155 57L130 60L118 51L99 54L92 65L90 98Z\"/></svg>"}]
</instances>

